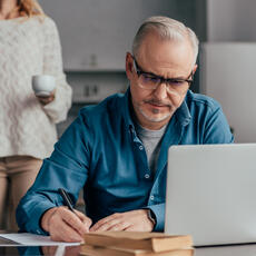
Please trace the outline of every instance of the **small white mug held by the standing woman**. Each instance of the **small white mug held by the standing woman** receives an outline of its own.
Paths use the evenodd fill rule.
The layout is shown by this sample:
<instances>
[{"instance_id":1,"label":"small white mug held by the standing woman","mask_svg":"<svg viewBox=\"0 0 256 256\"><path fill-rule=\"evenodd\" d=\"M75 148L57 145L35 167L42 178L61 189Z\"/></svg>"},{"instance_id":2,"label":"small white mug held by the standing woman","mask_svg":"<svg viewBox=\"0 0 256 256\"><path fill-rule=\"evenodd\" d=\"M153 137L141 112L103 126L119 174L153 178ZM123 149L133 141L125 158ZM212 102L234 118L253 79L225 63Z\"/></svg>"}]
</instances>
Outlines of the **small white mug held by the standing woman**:
<instances>
[{"instance_id":1,"label":"small white mug held by the standing woman","mask_svg":"<svg viewBox=\"0 0 256 256\"><path fill-rule=\"evenodd\" d=\"M36 96L48 97L55 88L55 77L50 75L32 76L32 89Z\"/></svg>"}]
</instances>

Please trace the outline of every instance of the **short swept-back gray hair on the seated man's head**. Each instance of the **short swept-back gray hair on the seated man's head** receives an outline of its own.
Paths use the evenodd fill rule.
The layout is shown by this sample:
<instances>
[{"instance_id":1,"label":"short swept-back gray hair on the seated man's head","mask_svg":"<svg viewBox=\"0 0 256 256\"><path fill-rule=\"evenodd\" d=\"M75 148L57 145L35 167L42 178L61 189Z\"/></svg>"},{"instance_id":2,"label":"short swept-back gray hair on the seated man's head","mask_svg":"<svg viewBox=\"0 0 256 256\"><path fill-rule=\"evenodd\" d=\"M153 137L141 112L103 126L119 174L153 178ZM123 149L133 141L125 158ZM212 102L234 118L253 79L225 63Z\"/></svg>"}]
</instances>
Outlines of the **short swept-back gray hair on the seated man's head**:
<instances>
[{"instance_id":1,"label":"short swept-back gray hair on the seated man's head","mask_svg":"<svg viewBox=\"0 0 256 256\"><path fill-rule=\"evenodd\" d=\"M134 56L138 55L139 47L141 46L144 38L151 31L156 31L164 40L188 40L194 51L193 65L196 63L199 45L196 33L184 23L161 16L150 17L140 26L132 42Z\"/></svg>"}]
</instances>

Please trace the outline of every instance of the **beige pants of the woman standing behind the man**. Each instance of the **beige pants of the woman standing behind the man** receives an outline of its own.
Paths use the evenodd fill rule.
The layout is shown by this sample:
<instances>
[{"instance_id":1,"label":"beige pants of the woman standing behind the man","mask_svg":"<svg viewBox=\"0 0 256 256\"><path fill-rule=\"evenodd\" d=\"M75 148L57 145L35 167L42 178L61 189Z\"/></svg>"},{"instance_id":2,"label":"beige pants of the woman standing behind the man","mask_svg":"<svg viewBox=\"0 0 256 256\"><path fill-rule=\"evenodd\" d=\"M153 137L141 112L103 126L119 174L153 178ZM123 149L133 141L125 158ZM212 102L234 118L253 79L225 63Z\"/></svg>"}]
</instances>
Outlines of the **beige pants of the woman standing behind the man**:
<instances>
[{"instance_id":1,"label":"beige pants of the woman standing behind the man","mask_svg":"<svg viewBox=\"0 0 256 256\"><path fill-rule=\"evenodd\" d=\"M42 160L29 156L0 157L0 229L16 232L16 208L33 184Z\"/></svg>"}]
</instances>

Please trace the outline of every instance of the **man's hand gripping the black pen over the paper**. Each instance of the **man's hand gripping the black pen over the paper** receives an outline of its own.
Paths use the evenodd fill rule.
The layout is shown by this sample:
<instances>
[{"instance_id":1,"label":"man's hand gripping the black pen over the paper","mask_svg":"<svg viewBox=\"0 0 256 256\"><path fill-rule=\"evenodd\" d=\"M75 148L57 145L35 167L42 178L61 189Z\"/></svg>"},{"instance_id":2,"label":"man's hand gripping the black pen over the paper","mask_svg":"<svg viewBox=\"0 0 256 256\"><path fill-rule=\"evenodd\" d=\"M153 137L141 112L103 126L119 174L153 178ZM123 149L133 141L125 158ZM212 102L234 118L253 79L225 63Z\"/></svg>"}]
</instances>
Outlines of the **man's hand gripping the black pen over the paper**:
<instances>
[{"instance_id":1,"label":"man's hand gripping the black pen over the paper","mask_svg":"<svg viewBox=\"0 0 256 256\"><path fill-rule=\"evenodd\" d=\"M60 206L43 214L41 226L52 240L83 242L82 235L89 232L91 219L78 210L75 211L76 214Z\"/></svg>"}]
</instances>

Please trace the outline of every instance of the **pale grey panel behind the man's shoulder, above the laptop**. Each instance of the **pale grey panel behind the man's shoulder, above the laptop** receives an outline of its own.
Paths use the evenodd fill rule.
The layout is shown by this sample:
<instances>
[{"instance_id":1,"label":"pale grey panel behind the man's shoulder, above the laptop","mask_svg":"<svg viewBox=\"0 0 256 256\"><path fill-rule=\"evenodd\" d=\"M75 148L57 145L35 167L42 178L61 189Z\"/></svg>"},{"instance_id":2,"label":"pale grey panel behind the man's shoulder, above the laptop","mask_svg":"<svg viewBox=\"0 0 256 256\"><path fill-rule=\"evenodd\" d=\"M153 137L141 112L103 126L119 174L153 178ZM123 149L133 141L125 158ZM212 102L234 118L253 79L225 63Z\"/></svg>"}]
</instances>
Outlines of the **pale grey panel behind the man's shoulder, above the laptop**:
<instances>
[{"instance_id":1,"label":"pale grey panel behind the man's shoulder, above the laptop","mask_svg":"<svg viewBox=\"0 0 256 256\"><path fill-rule=\"evenodd\" d=\"M256 142L256 43L208 42L200 53L201 91L221 104L236 142Z\"/></svg>"}]
</instances>

